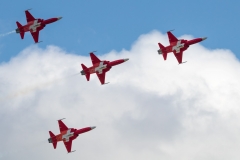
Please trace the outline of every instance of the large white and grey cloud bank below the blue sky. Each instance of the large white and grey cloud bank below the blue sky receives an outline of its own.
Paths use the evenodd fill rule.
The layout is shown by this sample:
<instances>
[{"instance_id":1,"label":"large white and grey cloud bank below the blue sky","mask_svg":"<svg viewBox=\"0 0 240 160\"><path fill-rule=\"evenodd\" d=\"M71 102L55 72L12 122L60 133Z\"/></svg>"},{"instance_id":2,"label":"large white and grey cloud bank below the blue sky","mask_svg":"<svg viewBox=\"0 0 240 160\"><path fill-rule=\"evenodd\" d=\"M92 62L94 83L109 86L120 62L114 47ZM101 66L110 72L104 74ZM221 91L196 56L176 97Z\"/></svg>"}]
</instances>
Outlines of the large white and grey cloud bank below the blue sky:
<instances>
[{"instance_id":1,"label":"large white and grey cloud bank below the blue sky","mask_svg":"<svg viewBox=\"0 0 240 160\"><path fill-rule=\"evenodd\" d=\"M192 38L191 36L183 36ZM209 39L210 40L210 39ZM56 46L31 46L0 66L0 157L2 159L238 159L240 147L239 61L230 50L191 46L178 65L164 61L158 31L142 35L130 51L99 56L130 58L107 73L101 86L74 75L89 57ZM73 142L73 154L57 134L57 119L69 127L96 125Z\"/></svg>"}]
</instances>

